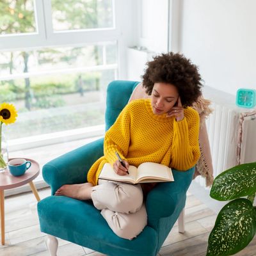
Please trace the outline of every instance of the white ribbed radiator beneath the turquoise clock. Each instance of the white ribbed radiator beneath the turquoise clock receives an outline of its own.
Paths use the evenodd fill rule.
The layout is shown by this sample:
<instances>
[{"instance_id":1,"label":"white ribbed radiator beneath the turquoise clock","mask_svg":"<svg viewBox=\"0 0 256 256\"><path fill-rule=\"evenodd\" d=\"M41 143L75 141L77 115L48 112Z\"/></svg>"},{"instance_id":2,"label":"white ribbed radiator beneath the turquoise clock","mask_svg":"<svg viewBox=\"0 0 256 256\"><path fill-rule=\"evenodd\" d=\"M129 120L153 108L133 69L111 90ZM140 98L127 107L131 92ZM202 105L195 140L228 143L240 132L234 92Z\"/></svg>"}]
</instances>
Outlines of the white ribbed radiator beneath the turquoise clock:
<instances>
[{"instance_id":1,"label":"white ribbed radiator beneath the turquoise clock","mask_svg":"<svg viewBox=\"0 0 256 256\"><path fill-rule=\"evenodd\" d=\"M256 109L238 108L235 95L207 86L204 97L214 109L206 120L214 178L239 163L256 161ZM195 180L205 187L202 177Z\"/></svg>"}]
</instances>

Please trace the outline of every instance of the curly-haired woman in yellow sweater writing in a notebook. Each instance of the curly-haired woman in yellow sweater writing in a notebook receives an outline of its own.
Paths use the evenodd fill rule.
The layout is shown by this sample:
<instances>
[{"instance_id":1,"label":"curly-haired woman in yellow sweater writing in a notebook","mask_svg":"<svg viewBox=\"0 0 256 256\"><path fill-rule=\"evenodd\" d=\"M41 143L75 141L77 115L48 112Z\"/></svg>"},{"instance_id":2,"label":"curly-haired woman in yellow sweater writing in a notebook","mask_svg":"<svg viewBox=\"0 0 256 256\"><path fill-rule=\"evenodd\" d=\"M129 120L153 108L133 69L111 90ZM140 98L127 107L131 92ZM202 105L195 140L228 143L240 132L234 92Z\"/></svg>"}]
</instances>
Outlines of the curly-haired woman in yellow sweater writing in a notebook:
<instances>
[{"instance_id":1,"label":"curly-haired woman in yellow sweater writing in a notebook","mask_svg":"<svg viewBox=\"0 0 256 256\"><path fill-rule=\"evenodd\" d=\"M188 170L200 156L199 116L188 106L200 95L201 77L182 54L161 54L147 63L143 86L150 99L133 100L106 132L104 156L90 168L84 184L61 186L56 196L92 200L109 227L125 239L138 236L147 225L143 191L156 184L125 184L98 180L105 163L118 175L128 175L129 164L154 162ZM118 161L122 157L125 166Z\"/></svg>"}]
</instances>

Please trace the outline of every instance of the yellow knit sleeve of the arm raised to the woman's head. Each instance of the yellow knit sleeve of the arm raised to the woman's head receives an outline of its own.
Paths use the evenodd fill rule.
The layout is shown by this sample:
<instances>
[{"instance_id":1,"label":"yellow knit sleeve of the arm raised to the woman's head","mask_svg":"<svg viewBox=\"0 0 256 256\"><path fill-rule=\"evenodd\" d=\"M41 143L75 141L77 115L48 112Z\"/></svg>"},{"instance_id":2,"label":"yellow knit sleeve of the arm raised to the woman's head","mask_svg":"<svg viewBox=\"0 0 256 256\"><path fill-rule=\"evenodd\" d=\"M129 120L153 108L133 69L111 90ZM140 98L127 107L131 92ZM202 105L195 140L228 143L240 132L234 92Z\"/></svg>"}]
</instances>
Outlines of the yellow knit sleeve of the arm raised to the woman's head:
<instances>
[{"instance_id":1,"label":"yellow knit sleeve of the arm raised to the woman's head","mask_svg":"<svg viewBox=\"0 0 256 256\"><path fill-rule=\"evenodd\" d=\"M177 122L173 120L172 160L170 166L177 170L188 170L200 157L199 115L190 108L188 115Z\"/></svg>"}]
</instances>

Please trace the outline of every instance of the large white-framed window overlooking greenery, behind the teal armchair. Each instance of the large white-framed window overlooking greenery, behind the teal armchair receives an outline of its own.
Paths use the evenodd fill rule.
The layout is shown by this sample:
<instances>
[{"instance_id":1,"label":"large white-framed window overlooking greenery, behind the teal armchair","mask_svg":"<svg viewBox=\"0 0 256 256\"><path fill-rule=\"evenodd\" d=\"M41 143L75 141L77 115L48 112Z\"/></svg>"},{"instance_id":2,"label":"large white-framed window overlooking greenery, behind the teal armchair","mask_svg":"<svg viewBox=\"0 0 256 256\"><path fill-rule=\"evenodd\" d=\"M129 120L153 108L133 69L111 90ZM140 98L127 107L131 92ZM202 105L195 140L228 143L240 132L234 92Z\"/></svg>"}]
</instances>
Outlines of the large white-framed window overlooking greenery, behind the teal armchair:
<instances>
[{"instance_id":1,"label":"large white-framed window overlooking greenery, behind the teal armchair","mask_svg":"<svg viewBox=\"0 0 256 256\"><path fill-rule=\"evenodd\" d=\"M102 125L104 134L106 86L118 79L124 62L120 52L126 46L122 34L127 25L124 31L120 25L124 21L116 26L122 19L116 13L124 13L129 4L123 0L0 2L0 102L15 104L19 114L5 130L11 151L17 148L13 141L19 140L19 150L31 140L33 147L40 147L45 145L42 138L53 133L60 142L67 141L72 140L67 138L72 131L83 129L86 134L95 125ZM52 159L51 152L47 157Z\"/></svg>"}]
</instances>

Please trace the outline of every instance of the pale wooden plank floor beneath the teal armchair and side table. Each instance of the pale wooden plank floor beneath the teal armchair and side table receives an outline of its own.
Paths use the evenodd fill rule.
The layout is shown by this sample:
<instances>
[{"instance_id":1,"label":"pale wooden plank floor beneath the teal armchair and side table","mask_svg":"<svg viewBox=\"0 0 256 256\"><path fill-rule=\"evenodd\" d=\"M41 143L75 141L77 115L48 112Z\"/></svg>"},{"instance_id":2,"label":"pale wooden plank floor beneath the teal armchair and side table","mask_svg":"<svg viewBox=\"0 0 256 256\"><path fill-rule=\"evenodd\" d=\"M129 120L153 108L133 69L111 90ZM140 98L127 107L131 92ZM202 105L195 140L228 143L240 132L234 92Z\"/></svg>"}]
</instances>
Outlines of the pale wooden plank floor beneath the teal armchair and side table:
<instances>
[{"instance_id":1,"label":"pale wooden plank floor beneath the teal armchair and side table","mask_svg":"<svg viewBox=\"0 0 256 256\"><path fill-rule=\"evenodd\" d=\"M38 193L42 199L50 195L50 189L42 189ZM211 232L216 220L215 212L188 192L185 216L185 234L180 234L177 224L175 224L159 255L203 256L206 254L209 232ZM36 200L32 193L6 198L5 218L6 244L0 246L0 256L49 255L45 244L45 234L40 232ZM58 255L100 256L103 254L59 239ZM255 256L256 237L242 252L236 255Z\"/></svg>"}]
</instances>

